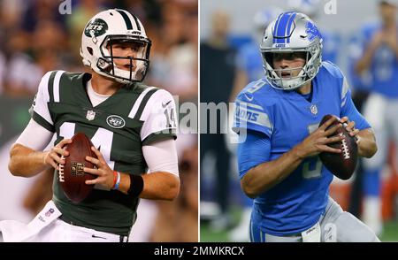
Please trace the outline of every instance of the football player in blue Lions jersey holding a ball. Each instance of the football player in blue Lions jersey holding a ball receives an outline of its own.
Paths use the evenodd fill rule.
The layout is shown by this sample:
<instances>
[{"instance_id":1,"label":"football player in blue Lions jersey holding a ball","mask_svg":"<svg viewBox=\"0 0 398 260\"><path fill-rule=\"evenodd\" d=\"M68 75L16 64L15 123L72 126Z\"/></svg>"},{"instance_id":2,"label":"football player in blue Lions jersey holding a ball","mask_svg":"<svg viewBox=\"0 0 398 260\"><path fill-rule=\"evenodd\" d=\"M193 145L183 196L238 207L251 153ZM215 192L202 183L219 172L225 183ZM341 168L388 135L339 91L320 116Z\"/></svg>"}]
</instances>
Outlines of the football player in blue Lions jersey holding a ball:
<instances>
[{"instance_id":1,"label":"football player in blue Lions jersey holding a ball","mask_svg":"<svg viewBox=\"0 0 398 260\"><path fill-rule=\"evenodd\" d=\"M334 119L347 122L358 154L377 150L371 126L356 111L340 69L322 62L322 36L305 14L285 12L265 29L260 45L265 77L236 98L241 187L254 198L250 241L379 241L329 197L333 174L320 152L341 153Z\"/></svg>"}]
</instances>

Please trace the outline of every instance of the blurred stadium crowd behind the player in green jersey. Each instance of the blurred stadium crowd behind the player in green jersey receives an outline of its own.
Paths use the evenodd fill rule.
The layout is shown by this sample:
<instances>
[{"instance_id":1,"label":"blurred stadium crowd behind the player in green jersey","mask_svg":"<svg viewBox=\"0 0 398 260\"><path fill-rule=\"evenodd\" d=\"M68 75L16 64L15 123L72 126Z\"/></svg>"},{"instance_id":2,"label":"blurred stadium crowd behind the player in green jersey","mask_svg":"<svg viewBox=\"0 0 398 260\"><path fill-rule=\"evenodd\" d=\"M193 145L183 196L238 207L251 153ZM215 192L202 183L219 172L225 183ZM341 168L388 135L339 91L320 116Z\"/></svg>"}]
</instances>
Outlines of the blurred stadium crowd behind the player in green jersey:
<instances>
[{"instance_id":1,"label":"blurred stadium crowd behind the player in green jersey","mask_svg":"<svg viewBox=\"0 0 398 260\"><path fill-rule=\"evenodd\" d=\"M70 14L59 12L61 3L70 4ZM52 172L33 180L13 177L8 151L29 120L42 75L87 70L81 32L88 19L109 8L138 16L152 41L144 83L167 89L180 104L197 103L197 0L0 0L0 219L29 221L50 199ZM179 198L142 200L130 241L197 241L197 135L179 134L177 147Z\"/></svg>"}]
</instances>

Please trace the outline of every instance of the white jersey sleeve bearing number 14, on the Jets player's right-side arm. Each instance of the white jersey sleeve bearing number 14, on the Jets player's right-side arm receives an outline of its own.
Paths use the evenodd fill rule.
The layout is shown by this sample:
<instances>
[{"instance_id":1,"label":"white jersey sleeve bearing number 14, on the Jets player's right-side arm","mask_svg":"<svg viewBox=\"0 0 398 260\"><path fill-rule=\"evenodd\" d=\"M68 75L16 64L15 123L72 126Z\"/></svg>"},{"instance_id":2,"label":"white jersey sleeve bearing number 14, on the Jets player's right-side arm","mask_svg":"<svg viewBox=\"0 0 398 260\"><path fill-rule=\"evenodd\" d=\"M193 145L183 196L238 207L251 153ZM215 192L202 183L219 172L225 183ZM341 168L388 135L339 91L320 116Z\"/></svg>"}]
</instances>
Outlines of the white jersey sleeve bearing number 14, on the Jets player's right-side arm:
<instances>
[{"instance_id":1,"label":"white jersey sleeve bearing number 14, on the Jets player's right-side arm","mask_svg":"<svg viewBox=\"0 0 398 260\"><path fill-rule=\"evenodd\" d=\"M142 145L167 138L176 139L176 105L172 95L165 89L157 90L149 98L140 120L144 122L141 129Z\"/></svg>"}]
</instances>

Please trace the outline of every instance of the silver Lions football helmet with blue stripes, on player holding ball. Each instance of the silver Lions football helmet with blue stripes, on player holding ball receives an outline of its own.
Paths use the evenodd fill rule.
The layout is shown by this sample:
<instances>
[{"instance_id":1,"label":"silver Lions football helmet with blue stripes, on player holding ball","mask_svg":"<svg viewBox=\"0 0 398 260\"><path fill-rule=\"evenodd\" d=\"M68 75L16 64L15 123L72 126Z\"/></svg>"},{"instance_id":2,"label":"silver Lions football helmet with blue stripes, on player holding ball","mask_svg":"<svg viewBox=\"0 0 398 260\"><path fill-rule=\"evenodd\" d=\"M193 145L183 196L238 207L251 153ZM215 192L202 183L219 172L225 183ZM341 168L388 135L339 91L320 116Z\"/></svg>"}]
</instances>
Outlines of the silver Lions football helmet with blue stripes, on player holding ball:
<instances>
[{"instance_id":1,"label":"silver Lions football helmet with blue stripes, on player holding ball","mask_svg":"<svg viewBox=\"0 0 398 260\"><path fill-rule=\"evenodd\" d=\"M322 35L315 23L300 12L284 12L265 29L260 50L265 78L273 88L293 90L310 82L322 64ZM305 53L306 62L300 68L274 69L275 53ZM297 76L281 77L300 70Z\"/></svg>"}]
</instances>

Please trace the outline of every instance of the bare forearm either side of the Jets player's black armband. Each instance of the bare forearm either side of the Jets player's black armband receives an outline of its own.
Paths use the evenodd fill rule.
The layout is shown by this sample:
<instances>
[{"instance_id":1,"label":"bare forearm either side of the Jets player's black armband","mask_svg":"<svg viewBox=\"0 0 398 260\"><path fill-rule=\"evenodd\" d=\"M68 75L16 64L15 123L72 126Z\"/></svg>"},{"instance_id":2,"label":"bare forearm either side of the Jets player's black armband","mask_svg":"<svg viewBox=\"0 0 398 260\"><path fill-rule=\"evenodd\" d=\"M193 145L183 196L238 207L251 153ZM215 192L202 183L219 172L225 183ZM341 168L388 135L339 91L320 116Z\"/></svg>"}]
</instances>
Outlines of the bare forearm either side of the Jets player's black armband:
<instances>
[{"instance_id":1,"label":"bare forearm either side of the Jets player's black armband","mask_svg":"<svg viewBox=\"0 0 398 260\"><path fill-rule=\"evenodd\" d=\"M180 179L168 172L151 172L142 175L142 199L172 201L180 191ZM127 173L121 173L119 191L127 194L132 185ZM134 184L133 184L134 185Z\"/></svg>"}]
</instances>

